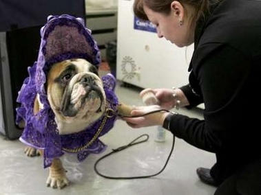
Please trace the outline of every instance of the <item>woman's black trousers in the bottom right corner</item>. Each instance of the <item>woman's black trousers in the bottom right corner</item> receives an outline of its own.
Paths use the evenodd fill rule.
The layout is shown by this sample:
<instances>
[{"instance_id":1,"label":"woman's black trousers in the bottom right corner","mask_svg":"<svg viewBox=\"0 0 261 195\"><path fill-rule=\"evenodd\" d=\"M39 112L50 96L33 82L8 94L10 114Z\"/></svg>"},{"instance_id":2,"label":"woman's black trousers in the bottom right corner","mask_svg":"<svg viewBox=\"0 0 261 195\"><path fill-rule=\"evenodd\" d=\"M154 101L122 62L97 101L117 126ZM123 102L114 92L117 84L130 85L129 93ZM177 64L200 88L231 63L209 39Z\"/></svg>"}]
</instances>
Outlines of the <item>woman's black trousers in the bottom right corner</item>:
<instances>
[{"instance_id":1,"label":"woman's black trousers in the bottom right corner","mask_svg":"<svg viewBox=\"0 0 261 195\"><path fill-rule=\"evenodd\" d=\"M261 159L225 179L214 195L261 195Z\"/></svg>"}]
</instances>

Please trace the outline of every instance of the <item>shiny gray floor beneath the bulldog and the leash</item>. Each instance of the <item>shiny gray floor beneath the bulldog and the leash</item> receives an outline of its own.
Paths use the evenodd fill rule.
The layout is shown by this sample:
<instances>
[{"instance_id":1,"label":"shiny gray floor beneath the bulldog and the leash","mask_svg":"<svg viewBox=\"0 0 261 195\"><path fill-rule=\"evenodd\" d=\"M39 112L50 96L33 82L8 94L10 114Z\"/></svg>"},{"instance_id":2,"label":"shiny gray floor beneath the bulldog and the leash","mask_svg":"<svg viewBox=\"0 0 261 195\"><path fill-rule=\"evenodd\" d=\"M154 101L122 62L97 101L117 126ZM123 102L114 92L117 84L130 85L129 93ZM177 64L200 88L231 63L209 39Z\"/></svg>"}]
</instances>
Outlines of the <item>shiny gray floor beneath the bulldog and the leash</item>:
<instances>
[{"instance_id":1,"label":"shiny gray floor beneath the bulldog and the leash","mask_svg":"<svg viewBox=\"0 0 261 195\"><path fill-rule=\"evenodd\" d=\"M116 93L121 102L142 104L138 89L123 87L120 83ZM198 111L180 109L182 114L201 118ZM20 141L6 140L0 136L0 194L92 194L92 195L209 195L216 190L201 183L196 176L196 168L210 167L215 161L213 154L189 146L176 138L174 152L165 170L149 179L113 180L105 179L94 172L96 160L147 133L149 140L114 154L99 163L98 170L108 176L143 176L158 172L167 159L172 144L172 135L167 133L163 143L154 141L156 127L132 129L120 119L114 128L101 140L107 144L102 154L90 154L79 163L72 154L62 157L70 185L62 190L46 187L48 170L43 169L41 157L25 157Z\"/></svg>"}]
</instances>

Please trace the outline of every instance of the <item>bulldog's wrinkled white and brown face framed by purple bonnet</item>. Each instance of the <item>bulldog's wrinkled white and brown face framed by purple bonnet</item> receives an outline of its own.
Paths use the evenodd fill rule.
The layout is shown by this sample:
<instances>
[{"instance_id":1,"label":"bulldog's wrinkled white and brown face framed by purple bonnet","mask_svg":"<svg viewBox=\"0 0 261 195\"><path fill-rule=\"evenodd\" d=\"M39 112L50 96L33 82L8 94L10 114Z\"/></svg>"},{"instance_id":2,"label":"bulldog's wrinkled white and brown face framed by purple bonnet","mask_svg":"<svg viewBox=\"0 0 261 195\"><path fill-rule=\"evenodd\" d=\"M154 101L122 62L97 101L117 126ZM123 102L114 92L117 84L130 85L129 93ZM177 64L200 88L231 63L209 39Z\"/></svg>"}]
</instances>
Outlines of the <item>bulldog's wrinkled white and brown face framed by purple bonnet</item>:
<instances>
[{"instance_id":1,"label":"bulldog's wrinkled white and brown face framed by purple bonnet","mask_svg":"<svg viewBox=\"0 0 261 195\"><path fill-rule=\"evenodd\" d=\"M60 134L84 130L105 112L106 96L98 70L84 59L52 65L47 93Z\"/></svg>"}]
</instances>

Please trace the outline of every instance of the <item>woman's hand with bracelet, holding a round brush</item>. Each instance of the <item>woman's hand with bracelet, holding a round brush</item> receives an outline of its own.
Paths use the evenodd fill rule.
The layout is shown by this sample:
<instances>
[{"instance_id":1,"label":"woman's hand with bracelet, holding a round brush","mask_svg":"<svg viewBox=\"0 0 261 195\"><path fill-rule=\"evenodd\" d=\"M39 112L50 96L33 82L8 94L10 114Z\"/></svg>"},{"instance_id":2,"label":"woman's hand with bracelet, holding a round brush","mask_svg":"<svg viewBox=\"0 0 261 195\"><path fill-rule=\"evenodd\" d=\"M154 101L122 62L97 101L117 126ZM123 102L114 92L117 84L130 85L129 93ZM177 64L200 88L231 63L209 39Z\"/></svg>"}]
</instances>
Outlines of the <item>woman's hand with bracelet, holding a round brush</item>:
<instances>
[{"instance_id":1,"label":"woman's hand with bracelet, holding a round brush","mask_svg":"<svg viewBox=\"0 0 261 195\"><path fill-rule=\"evenodd\" d=\"M167 110L170 110L171 108L174 108L174 106L177 105L177 102L179 101L178 106L188 106L189 101L187 100L184 93L176 88L176 89L143 89L143 91L140 91L140 96L143 97L147 91L150 91L154 93L156 98L158 99L158 105L161 108L165 108ZM176 95L174 97L174 94Z\"/></svg>"}]
</instances>

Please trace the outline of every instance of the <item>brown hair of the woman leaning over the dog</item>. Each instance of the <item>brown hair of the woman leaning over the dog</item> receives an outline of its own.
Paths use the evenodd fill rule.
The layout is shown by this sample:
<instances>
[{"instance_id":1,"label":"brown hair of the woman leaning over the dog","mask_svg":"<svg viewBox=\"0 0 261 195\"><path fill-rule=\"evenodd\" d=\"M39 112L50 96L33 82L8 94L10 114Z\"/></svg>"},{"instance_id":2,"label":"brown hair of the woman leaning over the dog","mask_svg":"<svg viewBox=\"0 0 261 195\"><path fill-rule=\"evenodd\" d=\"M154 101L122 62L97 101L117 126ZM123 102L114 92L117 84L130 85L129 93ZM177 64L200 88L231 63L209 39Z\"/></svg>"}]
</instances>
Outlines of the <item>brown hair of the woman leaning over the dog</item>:
<instances>
[{"instance_id":1,"label":"brown hair of the woman leaning over the dog","mask_svg":"<svg viewBox=\"0 0 261 195\"><path fill-rule=\"evenodd\" d=\"M159 12L161 14L168 15L171 11L171 3L175 0L135 0L134 1L134 14L142 20L147 21L147 15L144 12L143 6L146 5L147 8L153 10L154 12ZM204 13L209 10L209 0L176 0L182 5L189 5L195 10L194 16L191 20L197 21L200 16L204 16ZM218 1L218 0L216 0Z\"/></svg>"}]
</instances>

